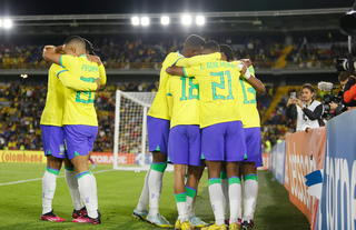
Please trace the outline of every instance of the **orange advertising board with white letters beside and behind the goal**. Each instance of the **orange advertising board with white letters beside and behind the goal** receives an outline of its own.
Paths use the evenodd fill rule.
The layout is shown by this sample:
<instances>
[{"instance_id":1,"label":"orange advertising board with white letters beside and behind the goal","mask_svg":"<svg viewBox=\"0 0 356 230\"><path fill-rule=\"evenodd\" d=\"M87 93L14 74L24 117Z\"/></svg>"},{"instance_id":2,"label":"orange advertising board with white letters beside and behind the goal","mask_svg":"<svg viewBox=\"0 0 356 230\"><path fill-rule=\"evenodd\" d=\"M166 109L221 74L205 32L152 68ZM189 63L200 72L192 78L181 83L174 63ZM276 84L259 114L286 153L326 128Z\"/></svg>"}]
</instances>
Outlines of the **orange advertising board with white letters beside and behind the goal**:
<instances>
[{"instance_id":1,"label":"orange advertising board with white letters beside and behind the goal","mask_svg":"<svg viewBox=\"0 0 356 230\"><path fill-rule=\"evenodd\" d=\"M92 152L90 157L95 162L99 164L112 164L113 153L110 152ZM119 153L118 164L136 164L135 153Z\"/></svg>"}]
</instances>

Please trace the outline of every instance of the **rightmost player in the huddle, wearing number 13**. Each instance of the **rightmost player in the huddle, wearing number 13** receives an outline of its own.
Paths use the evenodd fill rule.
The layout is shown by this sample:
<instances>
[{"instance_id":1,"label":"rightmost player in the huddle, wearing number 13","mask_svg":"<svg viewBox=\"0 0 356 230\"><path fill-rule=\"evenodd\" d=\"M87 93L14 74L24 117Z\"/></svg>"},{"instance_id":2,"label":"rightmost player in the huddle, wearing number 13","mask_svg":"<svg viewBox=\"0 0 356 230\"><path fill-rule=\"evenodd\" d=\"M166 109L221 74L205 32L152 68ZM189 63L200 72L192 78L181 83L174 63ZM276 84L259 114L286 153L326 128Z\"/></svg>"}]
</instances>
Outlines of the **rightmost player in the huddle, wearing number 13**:
<instances>
[{"instance_id":1,"label":"rightmost player in the huddle, wearing number 13","mask_svg":"<svg viewBox=\"0 0 356 230\"><path fill-rule=\"evenodd\" d=\"M241 229L250 229L258 192L256 168L261 166L260 118L257 110L256 91L264 93L266 89L261 81L255 78L255 71L251 66L247 69L244 60L234 61L234 52L229 46L221 44L220 51L226 54L228 62L247 70L244 71L245 74L240 74L241 90L238 98L240 99L239 108L244 111L241 118L247 149L245 159L241 162L241 172L244 174L244 217Z\"/></svg>"}]
</instances>

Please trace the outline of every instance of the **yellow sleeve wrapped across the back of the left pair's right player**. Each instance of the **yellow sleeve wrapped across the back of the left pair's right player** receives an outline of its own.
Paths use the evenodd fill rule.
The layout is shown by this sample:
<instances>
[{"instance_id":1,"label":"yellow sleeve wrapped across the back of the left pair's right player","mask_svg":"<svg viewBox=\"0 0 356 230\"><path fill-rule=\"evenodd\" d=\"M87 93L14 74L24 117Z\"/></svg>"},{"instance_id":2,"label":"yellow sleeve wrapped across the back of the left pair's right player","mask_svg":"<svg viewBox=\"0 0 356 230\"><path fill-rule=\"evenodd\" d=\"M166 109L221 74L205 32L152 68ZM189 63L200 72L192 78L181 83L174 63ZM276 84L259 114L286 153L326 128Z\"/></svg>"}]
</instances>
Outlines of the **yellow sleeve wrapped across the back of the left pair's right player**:
<instances>
[{"instance_id":1,"label":"yellow sleeve wrapped across the back of the left pair's right player","mask_svg":"<svg viewBox=\"0 0 356 230\"><path fill-rule=\"evenodd\" d=\"M57 72L57 78L65 87L75 91L97 91L98 88L97 83L85 82L70 74L66 69Z\"/></svg>"}]
</instances>

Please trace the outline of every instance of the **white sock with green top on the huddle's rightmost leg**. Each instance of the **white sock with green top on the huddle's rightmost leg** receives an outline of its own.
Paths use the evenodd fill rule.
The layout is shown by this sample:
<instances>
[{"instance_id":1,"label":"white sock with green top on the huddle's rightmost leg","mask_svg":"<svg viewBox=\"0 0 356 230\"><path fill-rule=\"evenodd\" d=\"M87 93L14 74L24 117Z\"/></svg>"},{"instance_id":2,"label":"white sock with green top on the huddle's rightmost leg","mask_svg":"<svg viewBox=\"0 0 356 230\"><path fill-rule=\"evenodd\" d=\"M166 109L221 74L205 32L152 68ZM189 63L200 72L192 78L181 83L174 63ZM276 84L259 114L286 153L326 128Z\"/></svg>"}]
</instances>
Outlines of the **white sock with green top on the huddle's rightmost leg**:
<instances>
[{"instance_id":1,"label":"white sock with green top on the huddle's rightmost leg","mask_svg":"<svg viewBox=\"0 0 356 230\"><path fill-rule=\"evenodd\" d=\"M243 221L251 220L255 201L257 197L257 176L256 174L246 174L244 176L244 218Z\"/></svg>"}]
</instances>

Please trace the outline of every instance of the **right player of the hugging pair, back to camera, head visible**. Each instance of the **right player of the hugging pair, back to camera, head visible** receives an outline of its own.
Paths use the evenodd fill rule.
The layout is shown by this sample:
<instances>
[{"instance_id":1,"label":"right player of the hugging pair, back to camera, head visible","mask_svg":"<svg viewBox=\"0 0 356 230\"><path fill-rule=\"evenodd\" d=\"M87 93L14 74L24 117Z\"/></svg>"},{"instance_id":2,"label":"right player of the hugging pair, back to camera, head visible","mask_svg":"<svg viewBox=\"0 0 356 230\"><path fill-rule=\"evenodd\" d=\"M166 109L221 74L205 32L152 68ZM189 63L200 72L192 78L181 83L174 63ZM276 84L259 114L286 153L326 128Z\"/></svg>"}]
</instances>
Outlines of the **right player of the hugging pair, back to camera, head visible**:
<instances>
[{"instance_id":1,"label":"right player of the hugging pair, back to camera, head visible","mask_svg":"<svg viewBox=\"0 0 356 230\"><path fill-rule=\"evenodd\" d=\"M90 62L86 56L86 43L78 37L69 37L62 47L67 53L65 56L48 49L43 52L43 58L65 68L57 74L69 71L85 82L93 82L99 78L99 67L96 62ZM93 107L95 92L76 91L65 88L65 112L63 128L67 146L67 154L75 166L79 191L85 200L88 214L73 219L79 223L101 223L98 198L97 182L93 174L89 171L89 151L98 132L97 113Z\"/></svg>"}]
</instances>

